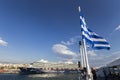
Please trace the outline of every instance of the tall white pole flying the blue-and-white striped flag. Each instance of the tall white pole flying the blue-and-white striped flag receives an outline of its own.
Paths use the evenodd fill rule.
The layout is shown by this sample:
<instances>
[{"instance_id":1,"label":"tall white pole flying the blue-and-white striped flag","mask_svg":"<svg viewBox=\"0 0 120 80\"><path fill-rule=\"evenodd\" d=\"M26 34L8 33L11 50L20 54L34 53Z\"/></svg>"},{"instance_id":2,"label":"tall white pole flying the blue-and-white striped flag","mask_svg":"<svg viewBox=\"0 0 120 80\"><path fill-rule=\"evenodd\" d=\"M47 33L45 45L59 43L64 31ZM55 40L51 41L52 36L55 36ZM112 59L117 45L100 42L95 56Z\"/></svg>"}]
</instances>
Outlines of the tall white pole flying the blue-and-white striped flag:
<instances>
[{"instance_id":1,"label":"tall white pole flying the blue-and-white striped flag","mask_svg":"<svg viewBox=\"0 0 120 80\"><path fill-rule=\"evenodd\" d=\"M80 12L80 6L78 7L79 12ZM84 54L85 54L85 64L86 64L86 80L92 80L91 77L91 71L90 71L90 67L89 67L89 63L88 63L88 56L87 56L87 48L86 48L86 41L85 39L83 39L83 50L84 50Z\"/></svg>"}]
</instances>

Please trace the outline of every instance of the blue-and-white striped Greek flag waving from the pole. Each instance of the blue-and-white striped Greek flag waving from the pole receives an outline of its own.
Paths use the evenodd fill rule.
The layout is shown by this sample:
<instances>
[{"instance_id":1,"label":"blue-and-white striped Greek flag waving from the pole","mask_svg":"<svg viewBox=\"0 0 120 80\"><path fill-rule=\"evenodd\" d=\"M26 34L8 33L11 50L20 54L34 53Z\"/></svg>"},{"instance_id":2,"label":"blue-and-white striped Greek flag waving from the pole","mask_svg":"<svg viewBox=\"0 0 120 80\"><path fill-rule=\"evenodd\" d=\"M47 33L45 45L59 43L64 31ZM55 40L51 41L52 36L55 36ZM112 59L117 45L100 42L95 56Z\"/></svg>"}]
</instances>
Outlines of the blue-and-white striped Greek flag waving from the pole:
<instances>
[{"instance_id":1,"label":"blue-and-white striped Greek flag waving from the pole","mask_svg":"<svg viewBox=\"0 0 120 80\"><path fill-rule=\"evenodd\" d=\"M109 43L101 36L93 32L87 27L85 22L85 18L82 16L80 12L80 24L81 24L81 32L82 38L86 40L86 42L90 43L93 49L110 49Z\"/></svg>"}]
</instances>

